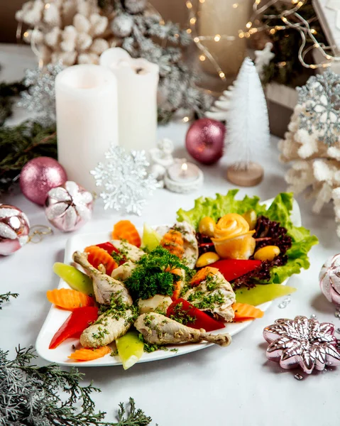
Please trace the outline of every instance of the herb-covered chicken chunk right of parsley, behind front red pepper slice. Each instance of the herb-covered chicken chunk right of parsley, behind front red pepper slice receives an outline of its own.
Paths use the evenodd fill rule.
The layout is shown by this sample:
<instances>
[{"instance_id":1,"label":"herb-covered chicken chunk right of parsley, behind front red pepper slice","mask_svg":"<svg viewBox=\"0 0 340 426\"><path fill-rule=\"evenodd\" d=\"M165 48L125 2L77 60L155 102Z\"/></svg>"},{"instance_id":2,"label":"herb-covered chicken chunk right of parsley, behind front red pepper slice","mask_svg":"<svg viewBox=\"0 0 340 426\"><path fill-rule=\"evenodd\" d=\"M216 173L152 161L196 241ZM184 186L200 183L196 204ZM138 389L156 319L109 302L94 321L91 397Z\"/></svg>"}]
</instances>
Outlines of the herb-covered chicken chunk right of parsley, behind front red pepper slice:
<instances>
[{"instance_id":1,"label":"herb-covered chicken chunk right of parsley, behind front red pepper slice","mask_svg":"<svg viewBox=\"0 0 340 426\"><path fill-rule=\"evenodd\" d=\"M183 299L202 311L211 312L217 319L231 322L234 318L231 305L236 302L235 293L220 272L209 273L199 285L190 288Z\"/></svg>"}]
</instances>

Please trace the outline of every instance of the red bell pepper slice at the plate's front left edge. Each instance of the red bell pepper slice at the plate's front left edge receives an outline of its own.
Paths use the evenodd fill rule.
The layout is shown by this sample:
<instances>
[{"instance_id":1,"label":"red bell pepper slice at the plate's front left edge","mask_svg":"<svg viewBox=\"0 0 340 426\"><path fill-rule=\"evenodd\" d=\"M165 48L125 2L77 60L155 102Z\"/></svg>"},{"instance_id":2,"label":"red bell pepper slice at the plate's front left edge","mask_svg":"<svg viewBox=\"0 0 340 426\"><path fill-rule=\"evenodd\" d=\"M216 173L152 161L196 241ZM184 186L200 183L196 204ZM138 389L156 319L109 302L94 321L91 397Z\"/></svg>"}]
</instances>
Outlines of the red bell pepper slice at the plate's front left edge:
<instances>
[{"instance_id":1,"label":"red bell pepper slice at the plate's front left edge","mask_svg":"<svg viewBox=\"0 0 340 426\"><path fill-rule=\"evenodd\" d=\"M80 337L91 322L98 318L98 308L95 306L77 307L53 336L49 349L55 349L69 337Z\"/></svg>"}]
</instances>

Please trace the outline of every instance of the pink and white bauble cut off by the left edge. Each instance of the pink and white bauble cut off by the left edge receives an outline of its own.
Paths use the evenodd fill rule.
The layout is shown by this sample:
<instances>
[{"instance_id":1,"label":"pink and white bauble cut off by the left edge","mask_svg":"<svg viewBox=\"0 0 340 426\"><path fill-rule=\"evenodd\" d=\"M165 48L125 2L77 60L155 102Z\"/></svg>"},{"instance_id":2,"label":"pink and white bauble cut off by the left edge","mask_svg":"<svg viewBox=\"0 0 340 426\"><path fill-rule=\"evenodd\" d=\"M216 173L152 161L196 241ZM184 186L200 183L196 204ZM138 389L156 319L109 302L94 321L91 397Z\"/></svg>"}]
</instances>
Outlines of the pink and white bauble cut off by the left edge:
<instances>
[{"instance_id":1,"label":"pink and white bauble cut off by the left edge","mask_svg":"<svg viewBox=\"0 0 340 426\"><path fill-rule=\"evenodd\" d=\"M26 214L11 204L0 204L0 255L7 256L27 243L30 224Z\"/></svg>"}]
</instances>

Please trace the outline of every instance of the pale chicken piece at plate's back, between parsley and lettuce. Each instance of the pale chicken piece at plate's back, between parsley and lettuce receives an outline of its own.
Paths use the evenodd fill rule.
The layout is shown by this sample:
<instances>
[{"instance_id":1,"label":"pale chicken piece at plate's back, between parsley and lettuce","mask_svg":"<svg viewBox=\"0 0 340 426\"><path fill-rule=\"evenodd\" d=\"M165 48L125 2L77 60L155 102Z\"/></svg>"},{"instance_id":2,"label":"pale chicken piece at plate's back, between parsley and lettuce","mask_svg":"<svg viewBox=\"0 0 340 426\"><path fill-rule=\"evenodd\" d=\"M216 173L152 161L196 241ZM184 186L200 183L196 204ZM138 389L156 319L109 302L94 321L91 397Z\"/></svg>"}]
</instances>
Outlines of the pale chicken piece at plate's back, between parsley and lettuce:
<instances>
[{"instance_id":1,"label":"pale chicken piece at plate's back, between parsley and lettuce","mask_svg":"<svg viewBox=\"0 0 340 426\"><path fill-rule=\"evenodd\" d=\"M174 226L158 226L156 231L160 236L163 236L170 229L175 229L182 234L184 241L182 260L185 261L188 268L194 268L198 259L198 243L194 228L187 222L176 222Z\"/></svg>"}]
</instances>

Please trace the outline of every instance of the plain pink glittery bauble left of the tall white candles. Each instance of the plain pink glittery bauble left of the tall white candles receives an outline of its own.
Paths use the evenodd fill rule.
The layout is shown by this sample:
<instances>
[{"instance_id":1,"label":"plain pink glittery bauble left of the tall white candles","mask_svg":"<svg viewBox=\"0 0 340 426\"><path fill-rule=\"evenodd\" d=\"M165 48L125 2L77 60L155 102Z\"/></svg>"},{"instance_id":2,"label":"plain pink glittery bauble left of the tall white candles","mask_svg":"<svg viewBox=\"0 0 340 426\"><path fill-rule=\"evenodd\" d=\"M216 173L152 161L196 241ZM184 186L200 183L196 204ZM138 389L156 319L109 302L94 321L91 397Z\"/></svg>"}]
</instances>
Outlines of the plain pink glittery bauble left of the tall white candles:
<instances>
[{"instance_id":1,"label":"plain pink glittery bauble left of the tall white candles","mask_svg":"<svg viewBox=\"0 0 340 426\"><path fill-rule=\"evenodd\" d=\"M67 180L65 169L57 160L38 157L28 161L20 173L20 187L28 200L45 204L48 191L63 185Z\"/></svg>"}]
</instances>

